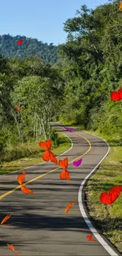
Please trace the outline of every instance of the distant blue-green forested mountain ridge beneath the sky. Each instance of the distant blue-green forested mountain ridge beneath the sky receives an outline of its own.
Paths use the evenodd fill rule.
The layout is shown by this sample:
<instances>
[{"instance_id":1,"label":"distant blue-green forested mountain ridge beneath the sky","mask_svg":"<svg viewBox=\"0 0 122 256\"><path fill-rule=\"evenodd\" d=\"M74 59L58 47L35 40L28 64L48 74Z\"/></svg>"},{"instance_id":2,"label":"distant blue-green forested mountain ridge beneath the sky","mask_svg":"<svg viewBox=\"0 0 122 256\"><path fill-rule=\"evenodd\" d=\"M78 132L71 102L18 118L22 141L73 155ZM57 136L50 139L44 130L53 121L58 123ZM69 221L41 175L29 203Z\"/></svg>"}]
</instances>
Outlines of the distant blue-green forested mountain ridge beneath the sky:
<instances>
[{"instance_id":1,"label":"distant blue-green forested mountain ridge beneath the sky","mask_svg":"<svg viewBox=\"0 0 122 256\"><path fill-rule=\"evenodd\" d=\"M17 44L17 41L20 40L24 40L22 45ZM54 46L54 43L48 45L48 43L24 35L0 35L0 53L8 59L19 58L21 60L31 55L37 55L43 61L52 64L57 62L57 46Z\"/></svg>"}]
</instances>

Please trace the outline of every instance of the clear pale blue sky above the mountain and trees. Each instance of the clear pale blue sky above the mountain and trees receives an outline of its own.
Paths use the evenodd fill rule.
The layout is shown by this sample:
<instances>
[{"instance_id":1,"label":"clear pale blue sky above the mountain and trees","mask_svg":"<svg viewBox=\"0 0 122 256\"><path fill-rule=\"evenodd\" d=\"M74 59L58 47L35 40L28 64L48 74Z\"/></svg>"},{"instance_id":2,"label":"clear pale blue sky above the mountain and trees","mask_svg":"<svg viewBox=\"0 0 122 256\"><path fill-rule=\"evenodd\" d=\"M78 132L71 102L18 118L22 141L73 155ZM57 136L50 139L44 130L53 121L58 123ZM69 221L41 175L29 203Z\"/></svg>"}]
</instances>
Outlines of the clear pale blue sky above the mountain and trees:
<instances>
[{"instance_id":1,"label":"clear pale blue sky above the mountain and trees","mask_svg":"<svg viewBox=\"0 0 122 256\"><path fill-rule=\"evenodd\" d=\"M2 0L0 3L0 35L25 35L43 43L65 43L63 31L68 18L84 4L95 9L109 0Z\"/></svg>"}]
</instances>

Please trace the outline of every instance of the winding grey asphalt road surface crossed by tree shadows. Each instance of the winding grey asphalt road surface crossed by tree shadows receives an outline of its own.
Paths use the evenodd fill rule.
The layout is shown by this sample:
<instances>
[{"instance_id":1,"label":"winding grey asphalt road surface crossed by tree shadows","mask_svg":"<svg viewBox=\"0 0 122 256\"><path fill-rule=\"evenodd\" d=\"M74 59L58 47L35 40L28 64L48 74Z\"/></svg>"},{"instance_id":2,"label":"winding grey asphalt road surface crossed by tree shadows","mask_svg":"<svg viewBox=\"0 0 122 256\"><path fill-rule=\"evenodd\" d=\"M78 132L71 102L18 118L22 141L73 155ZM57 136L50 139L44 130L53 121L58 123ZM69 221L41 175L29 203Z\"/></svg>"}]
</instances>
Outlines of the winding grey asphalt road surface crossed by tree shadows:
<instances>
[{"instance_id":1,"label":"winding grey asphalt road surface crossed by tree shadows","mask_svg":"<svg viewBox=\"0 0 122 256\"><path fill-rule=\"evenodd\" d=\"M61 124L56 124L56 128L73 143L72 148L58 160L68 157L68 161L73 162L82 158L83 162L79 167L69 163L70 181L60 180L62 169L57 169L57 165L51 162L26 169L25 183L28 182L26 186L34 191L34 195L25 195L20 188L13 191L18 187L17 176L22 170L0 176L0 220L13 213L6 222L13 224L0 226L0 256L14 255L7 243L13 244L22 256L120 255L104 236L102 238L112 248L111 254L98 240L87 241L86 236L91 234L91 230L82 217L78 202L79 187L104 158L107 144L85 132L67 132ZM68 202L75 198L76 203L65 214ZM85 209L84 202L83 206Z\"/></svg>"}]
</instances>

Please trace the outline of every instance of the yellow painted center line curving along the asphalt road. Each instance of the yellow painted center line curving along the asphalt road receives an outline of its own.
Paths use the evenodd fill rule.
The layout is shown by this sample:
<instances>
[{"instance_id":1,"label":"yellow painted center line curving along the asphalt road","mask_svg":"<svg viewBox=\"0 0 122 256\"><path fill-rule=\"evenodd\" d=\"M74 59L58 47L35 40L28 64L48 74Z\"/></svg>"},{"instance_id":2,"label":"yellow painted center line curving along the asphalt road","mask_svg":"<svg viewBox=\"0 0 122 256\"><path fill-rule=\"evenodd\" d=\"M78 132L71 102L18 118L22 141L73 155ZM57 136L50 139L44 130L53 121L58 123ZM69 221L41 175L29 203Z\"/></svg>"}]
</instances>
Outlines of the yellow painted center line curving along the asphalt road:
<instances>
[{"instance_id":1,"label":"yellow painted center line curving along the asphalt road","mask_svg":"<svg viewBox=\"0 0 122 256\"><path fill-rule=\"evenodd\" d=\"M90 143L90 141L89 141L87 138L85 138L83 135L80 135L80 134L77 133L77 132L74 132L74 133L76 133L77 135L79 135L79 137L82 137L83 139L86 139L86 140L87 140L87 143L89 143L89 146L90 146L90 147L89 147L89 149L88 149L84 154L81 154L78 158L75 158L75 159L73 159L72 161L76 161L77 159L83 157L83 155L87 154L87 153L91 150L91 143ZM72 163L72 161L69 161L68 163L70 164L70 163ZM37 176L37 177L35 177L34 179L29 180L28 182L24 183L23 185L25 186L25 185L27 185L27 184L29 184L29 183L35 181L35 180L39 180L39 179L42 178L43 176L46 176L46 175L48 175L48 174L50 174L50 173L54 173L55 171L57 171L57 169L60 169L60 168L61 168L61 167L57 167L56 169L51 170L51 171L49 171L48 173L44 173L44 174L42 174L42 175L40 175L40 176ZM13 193L14 191L17 191L18 188L20 188L20 185L17 186L17 187L15 187L15 188L13 188L13 190L11 190L11 191L7 191L5 194L2 194L2 195L0 196L0 200L1 200L2 198L5 198L7 195Z\"/></svg>"}]
</instances>

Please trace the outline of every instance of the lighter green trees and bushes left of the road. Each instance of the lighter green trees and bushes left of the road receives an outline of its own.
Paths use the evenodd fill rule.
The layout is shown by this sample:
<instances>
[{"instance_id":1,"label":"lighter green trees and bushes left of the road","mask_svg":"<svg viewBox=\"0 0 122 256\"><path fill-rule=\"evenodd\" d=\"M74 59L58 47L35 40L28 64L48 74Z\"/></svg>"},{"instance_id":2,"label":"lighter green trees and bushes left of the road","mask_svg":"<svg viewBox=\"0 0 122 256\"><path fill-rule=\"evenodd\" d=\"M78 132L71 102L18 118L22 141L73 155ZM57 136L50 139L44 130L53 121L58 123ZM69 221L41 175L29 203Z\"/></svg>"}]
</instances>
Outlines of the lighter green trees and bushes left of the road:
<instances>
[{"instance_id":1,"label":"lighter green trees and bushes left of the road","mask_svg":"<svg viewBox=\"0 0 122 256\"><path fill-rule=\"evenodd\" d=\"M37 57L9 61L0 55L0 71L0 150L3 161L9 147L28 141L39 143L42 137L55 136L50 121L57 115L65 82L57 70Z\"/></svg>"}]
</instances>

